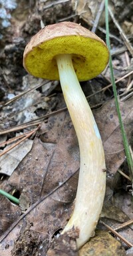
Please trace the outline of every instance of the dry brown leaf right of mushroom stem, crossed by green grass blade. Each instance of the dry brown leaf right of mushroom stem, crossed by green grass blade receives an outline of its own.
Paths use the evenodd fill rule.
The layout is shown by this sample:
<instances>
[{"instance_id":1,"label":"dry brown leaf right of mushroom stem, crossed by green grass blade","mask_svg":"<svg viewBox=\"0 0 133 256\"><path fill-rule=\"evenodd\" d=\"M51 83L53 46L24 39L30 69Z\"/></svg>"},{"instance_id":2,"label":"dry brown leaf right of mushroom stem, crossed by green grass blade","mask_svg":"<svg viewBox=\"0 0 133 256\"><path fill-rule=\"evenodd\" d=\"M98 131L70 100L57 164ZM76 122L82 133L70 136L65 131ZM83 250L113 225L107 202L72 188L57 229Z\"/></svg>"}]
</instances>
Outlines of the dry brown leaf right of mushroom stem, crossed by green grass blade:
<instances>
[{"instance_id":1,"label":"dry brown leaf right of mushroom stem, crossed by green grass blade","mask_svg":"<svg viewBox=\"0 0 133 256\"><path fill-rule=\"evenodd\" d=\"M133 123L132 99L126 102L119 102L119 104L126 134L130 138ZM125 153L114 99L108 101L102 108L95 110L94 116L102 136L106 168L108 172L115 174L116 170L124 162Z\"/></svg>"}]
</instances>

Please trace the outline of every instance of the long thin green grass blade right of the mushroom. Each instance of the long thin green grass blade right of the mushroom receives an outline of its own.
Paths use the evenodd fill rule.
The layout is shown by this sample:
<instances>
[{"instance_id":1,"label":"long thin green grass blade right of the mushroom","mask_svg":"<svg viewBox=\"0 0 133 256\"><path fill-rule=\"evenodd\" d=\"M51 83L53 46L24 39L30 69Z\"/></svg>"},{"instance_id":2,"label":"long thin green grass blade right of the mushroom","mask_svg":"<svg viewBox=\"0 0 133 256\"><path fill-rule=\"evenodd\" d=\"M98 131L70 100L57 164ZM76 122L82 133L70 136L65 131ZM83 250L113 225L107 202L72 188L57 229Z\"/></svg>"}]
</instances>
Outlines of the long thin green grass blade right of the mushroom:
<instances>
[{"instance_id":1,"label":"long thin green grass blade right of the mushroom","mask_svg":"<svg viewBox=\"0 0 133 256\"><path fill-rule=\"evenodd\" d=\"M108 26L108 0L105 0L105 21L106 21L106 45L107 45L107 47L110 51L110 37L109 37L109 26ZM122 117L121 117L121 114L120 114L120 107L119 107L119 103L118 103L116 84L115 84L115 80L114 80L114 72L113 72L113 68L112 68L112 57L111 57L111 55L109 57L109 66L110 66L110 78L111 78L112 88L113 88L113 92L114 92L114 100L115 100L115 104L116 104L116 111L117 111L117 114L118 114L120 130L122 132L122 139L123 139L123 143L124 143L124 150L125 150L126 159L127 159L127 162L128 162L128 168L129 168L129 171L130 171L130 176L133 180L133 160L132 160L132 156L130 154L128 139L127 139L126 132L125 132L125 129L124 129L124 124L122 122Z\"/></svg>"}]
</instances>

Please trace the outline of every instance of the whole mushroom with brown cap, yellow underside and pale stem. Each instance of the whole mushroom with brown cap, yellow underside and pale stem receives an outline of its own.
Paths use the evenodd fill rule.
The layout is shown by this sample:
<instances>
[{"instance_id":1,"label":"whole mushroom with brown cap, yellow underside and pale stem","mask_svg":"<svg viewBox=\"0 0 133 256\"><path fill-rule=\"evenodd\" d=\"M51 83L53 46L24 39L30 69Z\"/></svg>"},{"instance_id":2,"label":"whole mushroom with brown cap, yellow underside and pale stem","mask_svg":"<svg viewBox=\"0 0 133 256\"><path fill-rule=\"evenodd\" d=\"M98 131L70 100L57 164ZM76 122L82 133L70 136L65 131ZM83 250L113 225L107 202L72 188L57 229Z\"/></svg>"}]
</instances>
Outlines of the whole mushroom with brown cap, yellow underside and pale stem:
<instances>
[{"instance_id":1,"label":"whole mushroom with brown cap, yellow underside and pale stem","mask_svg":"<svg viewBox=\"0 0 133 256\"><path fill-rule=\"evenodd\" d=\"M74 211L63 233L78 228L78 248L94 235L106 188L104 150L94 116L78 81L100 74L108 63L102 39L72 22L41 29L25 47L23 65L38 78L59 80L80 148Z\"/></svg>"}]
</instances>

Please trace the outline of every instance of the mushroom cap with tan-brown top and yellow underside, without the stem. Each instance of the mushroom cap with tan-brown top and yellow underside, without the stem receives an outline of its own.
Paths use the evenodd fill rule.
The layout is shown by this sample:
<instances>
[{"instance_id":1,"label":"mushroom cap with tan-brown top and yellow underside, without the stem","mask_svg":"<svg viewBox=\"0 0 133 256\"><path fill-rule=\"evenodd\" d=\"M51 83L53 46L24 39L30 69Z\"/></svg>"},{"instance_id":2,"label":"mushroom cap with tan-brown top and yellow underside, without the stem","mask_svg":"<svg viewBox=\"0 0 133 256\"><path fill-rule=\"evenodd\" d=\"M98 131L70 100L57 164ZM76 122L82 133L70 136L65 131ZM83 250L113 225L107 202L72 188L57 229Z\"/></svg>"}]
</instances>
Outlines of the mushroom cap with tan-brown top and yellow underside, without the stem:
<instances>
[{"instance_id":1,"label":"mushroom cap with tan-brown top and yellow underside, without the stem","mask_svg":"<svg viewBox=\"0 0 133 256\"><path fill-rule=\"evenodd\" d=\"M23 66L38 78L59 80L56 55L71 54L79 81L98 76L108 63L108 49L100 37L72 22L48 25L31 38Z\"/></svg>"}]
</instances>

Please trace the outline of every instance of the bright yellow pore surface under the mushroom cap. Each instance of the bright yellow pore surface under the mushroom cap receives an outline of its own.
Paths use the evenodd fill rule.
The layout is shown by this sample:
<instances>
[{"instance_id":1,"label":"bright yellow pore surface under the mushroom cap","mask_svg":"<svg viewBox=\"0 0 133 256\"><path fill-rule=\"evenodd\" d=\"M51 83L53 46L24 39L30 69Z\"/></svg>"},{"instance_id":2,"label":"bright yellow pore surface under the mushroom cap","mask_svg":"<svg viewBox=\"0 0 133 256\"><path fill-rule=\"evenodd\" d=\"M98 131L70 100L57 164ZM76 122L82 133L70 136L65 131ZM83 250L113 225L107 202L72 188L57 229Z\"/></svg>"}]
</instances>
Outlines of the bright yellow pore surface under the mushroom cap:
<instances>
[{"instance_id":1,"label":"bright yellow pore surface under the mushroom cap","mask_svg":"<svg viewBox=\"0 0 133 256\"><path fill-rule=\"evenodd\" d=\"M68 35L55 37L33 47L25 55L25 69L38 78L59 80L55 59L59 54L72 55L72 63L79 81L98 76L108 63L108 49L102 42L81 35Z\"/></svg>"}]
</instances>

